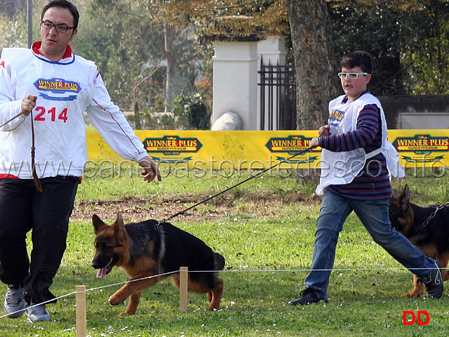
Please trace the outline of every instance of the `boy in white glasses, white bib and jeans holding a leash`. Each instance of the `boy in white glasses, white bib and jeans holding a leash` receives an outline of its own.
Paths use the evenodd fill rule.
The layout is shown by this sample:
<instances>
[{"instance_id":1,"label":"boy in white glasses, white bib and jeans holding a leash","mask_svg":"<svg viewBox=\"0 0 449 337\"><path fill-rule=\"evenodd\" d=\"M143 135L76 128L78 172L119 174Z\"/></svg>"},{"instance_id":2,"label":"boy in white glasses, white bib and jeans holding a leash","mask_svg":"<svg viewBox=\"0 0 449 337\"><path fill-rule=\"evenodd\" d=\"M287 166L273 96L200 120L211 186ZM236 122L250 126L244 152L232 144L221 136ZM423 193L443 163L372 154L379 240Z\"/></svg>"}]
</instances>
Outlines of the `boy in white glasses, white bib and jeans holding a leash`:
<instances>
[{"instance_id":1,"label":"boy in white glasses, white bib and jeans holding a leash","mask_svg":"<svg viewBox=\"0 0 449 337\"><path fill-rule=\"evenodd\" d=\"M323 148L321 178L316 194L323 195L316 222L311 272L300 298L290 305L328 302L330 272L338 235L354 211L373 240L427 287L429 297L440 298L443 281L436 260L428 258L391 227L389 175L404 176L398 153L387 140L387 123L380 101L367 86L373 71L371 56L349 53L338 73L344 95L329 103L329 119L310 146Z\"/></svg>"}]
</instances>

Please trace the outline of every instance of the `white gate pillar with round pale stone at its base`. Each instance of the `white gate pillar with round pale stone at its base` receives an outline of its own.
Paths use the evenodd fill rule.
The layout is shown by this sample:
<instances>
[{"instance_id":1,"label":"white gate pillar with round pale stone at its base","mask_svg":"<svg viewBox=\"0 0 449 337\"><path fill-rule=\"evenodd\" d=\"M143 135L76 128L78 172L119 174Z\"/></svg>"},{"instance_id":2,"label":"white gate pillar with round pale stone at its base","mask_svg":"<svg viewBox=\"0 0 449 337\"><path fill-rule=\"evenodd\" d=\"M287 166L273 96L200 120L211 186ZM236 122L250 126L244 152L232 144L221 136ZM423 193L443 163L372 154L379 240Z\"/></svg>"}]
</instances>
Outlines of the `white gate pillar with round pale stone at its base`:
<instances>
[{"instance_id":1,"label":"white gate pillar with round pale stone at its base","mask_svg":"<svg viewBox=\"0 0 449 337\"><path fill-rule=\"evenodd\" d=\"M242 130L257 125L257 42L215 41L212 124L225 112L236 112Z\"/></svg>"}]
</instances>

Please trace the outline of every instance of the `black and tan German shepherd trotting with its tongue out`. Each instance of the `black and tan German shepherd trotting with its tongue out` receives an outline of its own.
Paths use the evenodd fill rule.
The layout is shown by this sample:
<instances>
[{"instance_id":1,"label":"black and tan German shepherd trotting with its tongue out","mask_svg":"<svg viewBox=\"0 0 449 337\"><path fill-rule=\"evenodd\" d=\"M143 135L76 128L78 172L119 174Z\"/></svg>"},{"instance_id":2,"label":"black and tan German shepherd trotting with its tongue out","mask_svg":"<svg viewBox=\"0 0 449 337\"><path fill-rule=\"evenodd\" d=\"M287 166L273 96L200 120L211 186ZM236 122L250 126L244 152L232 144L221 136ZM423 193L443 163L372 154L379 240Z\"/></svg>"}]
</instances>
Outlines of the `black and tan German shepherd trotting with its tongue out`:
<instances>
[{"instance_id":1,"label":"black and tan German shepherd trotting with its tongue out","mask_svg":"<svg viewBox=\"0 0 449 337\"><path fill-rule=\"evenodd\" d=\"M130 298L125 312L119 316L133 315L142 291L168 276L159 275L179 271L180 267L188 267L189 271L205 271L188 273L188 291L207 293L210 305L206 310L220 308L223 280L212 271L223 270L225 258L213 252L200 239L170 223L156 220L123 225L120 213L117 213L116 221L111 226L95 214L92 222L96 235L92 266L99 269L98 279L105 277L114 265L124 270L130 281L143 278L126 283L109 298L111 305L121 304ZM170 276L179 288L180 273Z\"/></svg>"}]
</instances>

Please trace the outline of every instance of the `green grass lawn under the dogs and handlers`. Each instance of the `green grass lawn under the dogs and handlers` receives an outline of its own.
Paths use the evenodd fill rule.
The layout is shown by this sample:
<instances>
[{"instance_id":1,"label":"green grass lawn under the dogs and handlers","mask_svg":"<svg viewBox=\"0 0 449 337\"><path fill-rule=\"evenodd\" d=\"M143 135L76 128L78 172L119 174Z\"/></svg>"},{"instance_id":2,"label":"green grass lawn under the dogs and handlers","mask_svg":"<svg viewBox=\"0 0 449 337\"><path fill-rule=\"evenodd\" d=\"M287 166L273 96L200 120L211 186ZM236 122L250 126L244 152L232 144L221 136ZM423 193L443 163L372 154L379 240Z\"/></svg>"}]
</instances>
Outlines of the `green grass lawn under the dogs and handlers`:
<instances>
[{"instance_id":1,"label":"green grass lawn under the dogs and handlers","mask_svg":"<svg viewBox=\"0 0 449 337\"><path fill-rule=\"evenodd\" d=\"M416 177L393 180L392 184L396 193L408 184L417 204L437 204L449 200L448 176L445 173L432 178L424 174L423 178L420 171ZM145 184L137 174L132 178L93 176L79 186L76 203L127 197L152 200L153 207L165 201L183 203L192 197L204 199L247 177L246 173L232 178L168 176L159 184ZM87 336L92 337L447 336L447 286L440 300L401 298L412 289L412 275L372 242L352 214L337 246L329 303L300 308L288 305L288 300L304 288L311 263L320 206L320 199L311 196L315 185L314 179L296 180L293 176L254 178L220 196L227 214L219 220L173 219L173 224L225 256L227 270L220 274L225 292L219 312L204 312L206 296L197 294L189 294L189 311L180 312L179 293L166 279L143 293L136 315L117 317L124 305L111 306L107 300L119 286L98 287L124 282L126 275L114 268L105 279L95 278L96 271L91 267L93 228L83 221L70 225L67 251L52 291L61 296L74 292L78 284L95 289L87 293ZM291 201L298 191L304 192L304 197ZM267 209L255 213L254 203ZM201 215L213 208L209 203L195 211ZM0 336L76 336L74 295L48 305L48 310L53 322L28 324L25 317L0 319ZM429 324L403 326L404 310L429 312Z\"/></svg>"}]
</instances>

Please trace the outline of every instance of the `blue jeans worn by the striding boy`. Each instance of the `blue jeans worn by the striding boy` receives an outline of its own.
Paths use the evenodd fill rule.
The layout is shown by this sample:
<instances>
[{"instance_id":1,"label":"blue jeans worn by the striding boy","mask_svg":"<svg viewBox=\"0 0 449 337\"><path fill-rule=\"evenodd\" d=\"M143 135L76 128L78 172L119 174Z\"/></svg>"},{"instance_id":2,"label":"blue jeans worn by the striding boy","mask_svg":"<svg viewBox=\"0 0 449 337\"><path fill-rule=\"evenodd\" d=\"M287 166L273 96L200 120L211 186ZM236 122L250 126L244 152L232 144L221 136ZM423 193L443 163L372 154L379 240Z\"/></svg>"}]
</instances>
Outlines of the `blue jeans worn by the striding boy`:
<instances>
[{"instance_id":1,"label":"blue jeans worn by the striding boy","mask_svg":"<svg viewBox=\"0 0 449 337\"><path fill-rule=\"evenodd\" d=\"M334 265L338 234L351 211L356 212L373 240L415 275L424 276L434 269L433 259L425 256L406 237L391 227L389 199L349 199L325 190L320 215L316 221L311 272L304 282L307 288L314 289L318 298L328 299L327 289Z\"/></svg>"}]
</instances>

